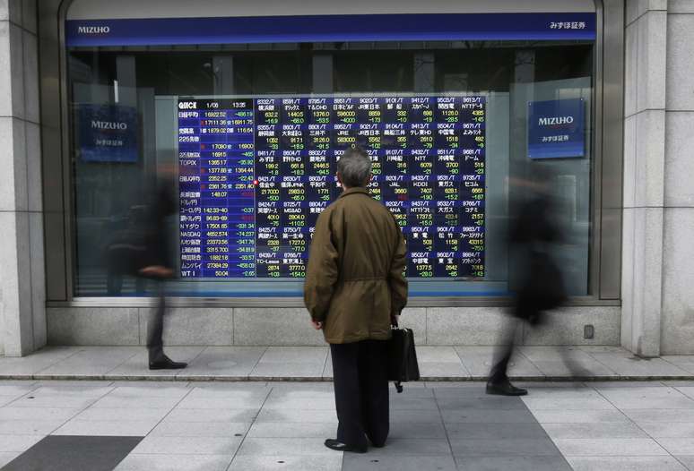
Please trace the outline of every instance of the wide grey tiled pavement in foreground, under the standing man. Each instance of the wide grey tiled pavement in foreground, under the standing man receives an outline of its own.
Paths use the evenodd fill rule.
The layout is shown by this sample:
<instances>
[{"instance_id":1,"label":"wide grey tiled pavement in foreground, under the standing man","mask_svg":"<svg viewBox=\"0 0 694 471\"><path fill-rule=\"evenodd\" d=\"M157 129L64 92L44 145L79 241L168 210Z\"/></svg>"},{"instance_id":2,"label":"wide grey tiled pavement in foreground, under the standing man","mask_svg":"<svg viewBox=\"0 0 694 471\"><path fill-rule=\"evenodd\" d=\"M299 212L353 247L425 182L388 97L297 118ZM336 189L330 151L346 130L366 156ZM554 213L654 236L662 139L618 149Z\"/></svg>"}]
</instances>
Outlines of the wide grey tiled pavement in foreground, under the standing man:
<instances>
[{"instance_id":1,"label":"wide grey tiled pavement in foreground, under the standing man","mask_svg":"<svg viewBox=\"0 0 694 471\"><path fill-rule=\"evenodd\" d=\"M386 447L343 456L323 446L336 424L327 381L0 381L0 467L694 470L694 381L521 385L529 396L471 381L391 388Z\"/></svg>"}]
</instances>

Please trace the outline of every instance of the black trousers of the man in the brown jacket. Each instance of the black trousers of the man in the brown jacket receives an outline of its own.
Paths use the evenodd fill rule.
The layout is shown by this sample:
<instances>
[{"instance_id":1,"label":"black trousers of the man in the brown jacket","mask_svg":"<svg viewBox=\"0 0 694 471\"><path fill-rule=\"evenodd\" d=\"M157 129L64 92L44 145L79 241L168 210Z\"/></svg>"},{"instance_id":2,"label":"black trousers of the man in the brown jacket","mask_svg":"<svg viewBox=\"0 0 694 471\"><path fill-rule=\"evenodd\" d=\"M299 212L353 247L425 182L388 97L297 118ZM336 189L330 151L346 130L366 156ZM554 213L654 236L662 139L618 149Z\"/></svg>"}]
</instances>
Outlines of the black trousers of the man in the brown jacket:
<instances>
[{"instance_id":1,"label":"black trousers of the man in the brown jacket","mask_svg":"<svg viewBox=\"0 0 694 471\"><path fill-rule=\"evenodd\" d=\"M386 444L389 429L386 340L331 344L337 440L351 447Z\"/></svg>"}]
</instances>

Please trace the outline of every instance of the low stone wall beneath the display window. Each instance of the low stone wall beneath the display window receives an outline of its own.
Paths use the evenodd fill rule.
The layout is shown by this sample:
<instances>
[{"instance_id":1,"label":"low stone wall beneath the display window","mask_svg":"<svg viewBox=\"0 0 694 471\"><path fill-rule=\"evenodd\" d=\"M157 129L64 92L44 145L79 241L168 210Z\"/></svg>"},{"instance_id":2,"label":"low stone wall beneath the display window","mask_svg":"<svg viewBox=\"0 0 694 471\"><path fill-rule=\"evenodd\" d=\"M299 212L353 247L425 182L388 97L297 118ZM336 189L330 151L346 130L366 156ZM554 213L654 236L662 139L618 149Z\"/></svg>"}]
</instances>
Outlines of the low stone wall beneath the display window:
<instances>
[{"instance_id":1,"label":"low stone wall beneath the display window","mask_svg":"<svg viewBox=\"0 0 694 471\"><path fill-rule=\"evenodd\" d=\"M146 345L151 308L49 307L51 345ZM401 325L414 331L418 345L497 345L507 325L499 307L406 308ZM584 326L594 338L584 338ZM620 344L620 307L566 307L541 327L516 332L523 345ZM173 308L165 321L167 345L320 346L321 332L303 308Z\"/></svg>"}]
</instances>

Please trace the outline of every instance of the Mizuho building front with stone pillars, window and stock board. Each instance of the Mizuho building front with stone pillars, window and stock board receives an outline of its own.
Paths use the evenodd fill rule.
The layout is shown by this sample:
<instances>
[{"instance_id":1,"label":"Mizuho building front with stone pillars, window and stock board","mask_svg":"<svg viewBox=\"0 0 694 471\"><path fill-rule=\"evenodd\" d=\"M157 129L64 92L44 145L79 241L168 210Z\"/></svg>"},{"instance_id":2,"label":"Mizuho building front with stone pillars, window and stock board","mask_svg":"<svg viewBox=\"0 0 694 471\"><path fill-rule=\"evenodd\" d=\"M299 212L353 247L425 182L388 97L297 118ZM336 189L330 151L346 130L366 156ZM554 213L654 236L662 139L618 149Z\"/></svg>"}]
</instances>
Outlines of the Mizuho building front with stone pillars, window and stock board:
<instances>
[{"instance_id":1,"label":"Mizuho building front with stone pillars, window and stock board","mask_svg":"<svg viewBox=\"0 0 694 471\"><path fill-rule=\"evenodd\" d=\"M403 323L493 345L505 237L547 184L568 305L525 345L694 351L689 0L0 4L0 349L142 345L117 270L159 176L170 345L320 345L301 276L334 162L408 239Z\"/></svg>"}]
</instances>

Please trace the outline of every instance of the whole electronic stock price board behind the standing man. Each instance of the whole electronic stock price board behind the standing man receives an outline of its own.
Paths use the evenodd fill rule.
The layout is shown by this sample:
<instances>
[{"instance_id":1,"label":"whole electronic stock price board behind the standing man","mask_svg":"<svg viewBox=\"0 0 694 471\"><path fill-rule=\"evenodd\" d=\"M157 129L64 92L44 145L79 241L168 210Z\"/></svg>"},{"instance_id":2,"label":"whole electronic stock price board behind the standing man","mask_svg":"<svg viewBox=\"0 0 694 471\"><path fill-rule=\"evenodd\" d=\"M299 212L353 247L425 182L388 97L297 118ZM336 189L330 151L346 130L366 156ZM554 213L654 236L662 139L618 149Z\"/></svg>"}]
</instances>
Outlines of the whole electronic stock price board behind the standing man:
<instances>
[{"instance_id":1,"label":"whole electronic stock price board behind the standing man","mask_svg":"<svg viewBox=\"0 0 694 471\"><path fill-rule=\"evenodd\" d=\"M485 122L483 96L178 98L181 278L303 278L353 145L406 276L484 277Z\"/></svg>"}]
</instances>

